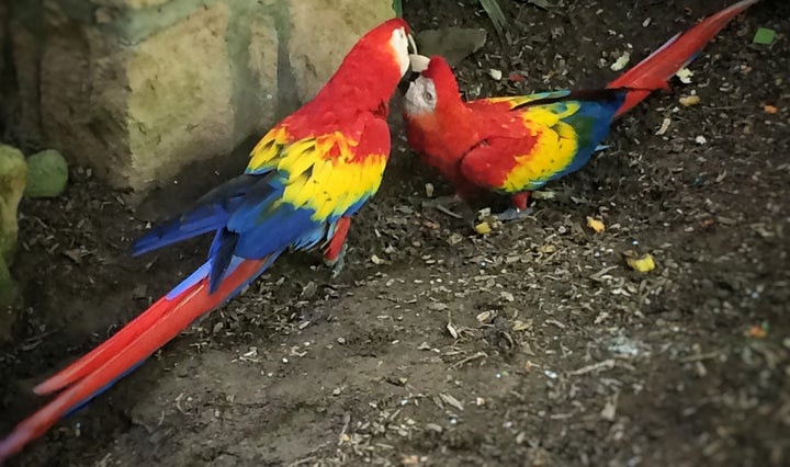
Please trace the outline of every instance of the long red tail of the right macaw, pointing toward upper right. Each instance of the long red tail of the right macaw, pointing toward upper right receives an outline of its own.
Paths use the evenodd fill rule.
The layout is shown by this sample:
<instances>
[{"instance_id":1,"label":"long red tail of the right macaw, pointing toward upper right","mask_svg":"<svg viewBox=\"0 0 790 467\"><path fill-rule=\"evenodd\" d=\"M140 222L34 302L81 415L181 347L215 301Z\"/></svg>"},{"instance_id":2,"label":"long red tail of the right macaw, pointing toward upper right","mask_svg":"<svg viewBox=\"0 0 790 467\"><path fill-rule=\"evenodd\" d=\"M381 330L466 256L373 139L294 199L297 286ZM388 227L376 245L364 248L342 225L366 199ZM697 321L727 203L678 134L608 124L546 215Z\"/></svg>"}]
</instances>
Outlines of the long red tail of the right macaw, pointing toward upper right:
<instances>
[{"instance_id":1,"label":"long red tail of the right macaw, pointing toward upper right","mask_svg":"<svg viewBox=\"0 0 790 467\"><path fill-rule=\"evenodd\" d=\"M636 88L629 92L617 115L642 102L651 94L651 90L665 89L673 75L688 65L730 20L758 1L742 0L706 18L687 32L669 39L650 57L610 82L608 88Z\"/></svg>"}]
</instances>

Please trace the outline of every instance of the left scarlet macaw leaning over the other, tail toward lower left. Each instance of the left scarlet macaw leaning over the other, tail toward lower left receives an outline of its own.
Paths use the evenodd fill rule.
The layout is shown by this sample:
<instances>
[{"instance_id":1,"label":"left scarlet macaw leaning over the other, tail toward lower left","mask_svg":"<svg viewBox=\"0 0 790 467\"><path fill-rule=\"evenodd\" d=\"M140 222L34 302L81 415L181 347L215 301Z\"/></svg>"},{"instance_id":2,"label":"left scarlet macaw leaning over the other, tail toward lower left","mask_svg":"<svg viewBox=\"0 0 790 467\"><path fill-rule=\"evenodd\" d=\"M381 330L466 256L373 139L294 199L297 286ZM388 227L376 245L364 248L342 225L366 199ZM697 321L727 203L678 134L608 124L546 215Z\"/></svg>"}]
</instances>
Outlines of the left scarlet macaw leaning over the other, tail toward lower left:
<instances>
[{"instance_id":1,"label":"left scarlet macaw leaning over the other, tail toward lower left","mask_svg":"<svg viewBox=\"0 0 790 467\"><path fill-rule=\"evenodd\" d=\"M390 157L388 102L409 67L410 30L384 22L351 48L317 95L267 133L245 173L134 246L144 253L215 232L208 260L108 341L35 387L60 391L0 441L0 463L255 281L286 249L339 261L351 216Z\"/></svg>"}]
</instances>

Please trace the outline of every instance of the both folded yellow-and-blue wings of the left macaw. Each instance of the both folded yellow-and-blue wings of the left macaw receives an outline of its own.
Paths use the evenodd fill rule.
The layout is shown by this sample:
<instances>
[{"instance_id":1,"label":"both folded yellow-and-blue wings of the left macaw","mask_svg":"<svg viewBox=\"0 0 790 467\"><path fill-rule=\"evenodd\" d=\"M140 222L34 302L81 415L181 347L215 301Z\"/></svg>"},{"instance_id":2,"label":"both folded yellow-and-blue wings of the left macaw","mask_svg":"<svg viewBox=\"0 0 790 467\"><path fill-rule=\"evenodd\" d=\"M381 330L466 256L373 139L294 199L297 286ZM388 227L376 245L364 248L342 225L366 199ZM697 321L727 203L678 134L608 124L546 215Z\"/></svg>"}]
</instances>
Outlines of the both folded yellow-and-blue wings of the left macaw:
<instances>
[{"instance_id":1,"label":"both folded yellow-and-blue wings of the left macaw","mask_svg":"<svg viewBox=\"0 0 790 467\"><path fill-rule=\"evenodd\" d=\"M371 119L372 122L369 122ZM334 147L335 150L350 150L352 155L356 151L363 151L365 157L374 155L382 158L384 155L385 162L390 141L386 123L373 115L363 115L352 127L360 127L358 133L362 134L362 138L359 144L349 145L345 138L337 137L335 134L325 135L323 140L326 143L327 140L332 141L331 138L338 138L335 144L339 146ZM368 144L364 144L365 141ZM387 147L383 147L382 141L385 141ZM334 232L335 225L341 216L354 214L365 203L377 189L380 180L371 178L372 191L360 195L356 192L357 185L347 186L338 183L334 181L336 176L325 172L321 183L328 185L320 190L326 200L300 196L298 193L312 192L300 192L305 187L298 183L304 183L304 176L312 175L311 171L316 161L326 161L323 159L326 155L317 153L315 147L316 139L311 137L291 141L287 145L283 144L282 147L267 146L263 148L266 155L260 157L253 150L248 166L260 159L257 160L257 163L262 164L263 169L251 170L248 167L247 173L244 175L210 192L185 214L155 228L139 239L134 246L135 253L140 254L196 235L215 231L214 241L208 251L208 261L184 282L184 284L191 284L190 281L207 275L210 291L214 292L222 284L228 271L234 269L236 259L276 257L289 248L309 249L316 247L331 237L328 234ZM329 149L321 149L321 151ZM366 160L365 157L361 160ZM340 167L343 166L340 164ZM364 168L365 166L360 167ZM332 166L332 170L335 169ZM290 173L290 170L296 170L297 174ZM340 175L343 175L342 169L338 170L340 170ZM382 169L374 164L371 170L374 170L371 173L375 174ZM353 170L350 173L360 176ZM317 189L311 185L309 190ZM357 196L351 206L342 209L327 209L327 203L339 203L338 197L342 198L351 194ZM305 198L314 202L305 202ZM177 291L182 289L183 287L177 287Z\"/></svg>"}]
</instances>

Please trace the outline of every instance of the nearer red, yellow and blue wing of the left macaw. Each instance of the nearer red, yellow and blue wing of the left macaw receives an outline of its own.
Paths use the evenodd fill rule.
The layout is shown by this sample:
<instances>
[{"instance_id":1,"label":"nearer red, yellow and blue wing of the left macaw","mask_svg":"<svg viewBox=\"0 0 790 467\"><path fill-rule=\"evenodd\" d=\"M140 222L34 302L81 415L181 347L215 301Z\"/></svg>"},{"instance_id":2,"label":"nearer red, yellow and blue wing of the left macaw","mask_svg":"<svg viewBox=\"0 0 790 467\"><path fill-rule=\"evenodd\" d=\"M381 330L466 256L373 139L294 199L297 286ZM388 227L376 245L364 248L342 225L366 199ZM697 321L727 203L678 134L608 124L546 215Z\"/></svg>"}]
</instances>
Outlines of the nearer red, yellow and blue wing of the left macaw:
<instances>
[{"instance_id":1,"label":"nearer red, yellow and blue wing of the left macaw","mask_svg":"<svg viewBox=\"0 0 790 467\"><path fill-rule=\"evenodd\" d=\"M270 173L250 191L217 232L212 277L232 258L263 258L307 249L330 236L341 216L354 214L379 190L390 156L390 129L368 114L343 130L289 137L274 128L252 151L248 174Z\"/></svg>"}]
</instances>

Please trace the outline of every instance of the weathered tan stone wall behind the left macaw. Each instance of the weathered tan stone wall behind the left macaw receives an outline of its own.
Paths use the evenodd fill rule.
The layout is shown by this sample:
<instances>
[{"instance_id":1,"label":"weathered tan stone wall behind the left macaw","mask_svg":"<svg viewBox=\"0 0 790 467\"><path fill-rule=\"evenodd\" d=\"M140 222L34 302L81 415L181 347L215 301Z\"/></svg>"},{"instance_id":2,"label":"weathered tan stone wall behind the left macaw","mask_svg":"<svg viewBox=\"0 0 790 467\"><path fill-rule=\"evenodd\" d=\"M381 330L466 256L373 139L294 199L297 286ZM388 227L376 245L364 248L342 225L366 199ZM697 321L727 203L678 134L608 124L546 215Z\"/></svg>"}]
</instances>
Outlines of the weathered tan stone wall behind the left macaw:
<instances>
[{"instance_id":1,"label":"weathered tan stone wall behind the left macaw","mask_svg":"<svg viewBox=\"0 0 790 467\"><path fill-rule=\"evenodd\" d=\"M145 192L262 134L393 15L392 0L11 0L13 133Z\"/></svg>"}]
</instances>

